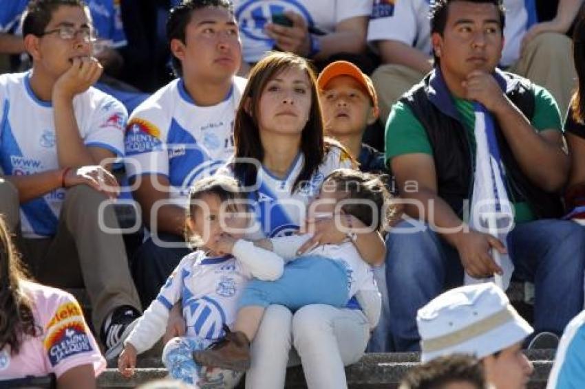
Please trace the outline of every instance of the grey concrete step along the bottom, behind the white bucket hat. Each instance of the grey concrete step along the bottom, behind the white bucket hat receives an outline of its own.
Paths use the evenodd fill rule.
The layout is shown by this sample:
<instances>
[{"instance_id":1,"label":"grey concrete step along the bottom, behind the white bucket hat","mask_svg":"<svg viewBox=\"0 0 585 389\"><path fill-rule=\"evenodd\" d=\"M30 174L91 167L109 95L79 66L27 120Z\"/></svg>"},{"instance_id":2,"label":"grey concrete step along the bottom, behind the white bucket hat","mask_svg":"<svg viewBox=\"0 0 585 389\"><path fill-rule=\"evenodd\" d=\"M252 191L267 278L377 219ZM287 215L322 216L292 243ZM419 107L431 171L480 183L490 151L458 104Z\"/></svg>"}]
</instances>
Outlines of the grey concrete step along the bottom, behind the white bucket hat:
<instances>
[{"instance_id":1,"label":"grey concrete step along the bottom, behind the white bucket hat","mask_svg":"<svg viewBox=\"0 0 585 389\"><path fill-rule=\"evenodd\" d=\"M529 389L544 389L546 379L553 366L553 350L526 351L534 365ZM348 386L352 389L390 389L397 388L405 372L416 366L420 360L418 353L370 353L357 363L345 368ZM143 358L138 361L136 375L125 379L109 365L105 373L98 378L99 388L134 388L152 379L167 376L167 370L160 365L158 358ZM289 368L286 374L286 388L306 388L306 382L300 366ZM243 382L238 388L244 388Z\"/></svg>"}]
</instances>

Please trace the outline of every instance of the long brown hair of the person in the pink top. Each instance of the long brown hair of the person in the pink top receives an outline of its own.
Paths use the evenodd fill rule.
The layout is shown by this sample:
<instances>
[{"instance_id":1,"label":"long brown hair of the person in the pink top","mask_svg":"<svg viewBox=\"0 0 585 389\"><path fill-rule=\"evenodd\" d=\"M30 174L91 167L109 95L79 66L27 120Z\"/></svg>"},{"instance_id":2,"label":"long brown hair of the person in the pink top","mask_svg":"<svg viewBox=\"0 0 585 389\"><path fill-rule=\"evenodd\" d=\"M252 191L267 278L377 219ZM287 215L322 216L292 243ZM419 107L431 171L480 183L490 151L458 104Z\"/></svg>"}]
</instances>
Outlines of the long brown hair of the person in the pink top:
<instances>
[{"instance_id":1,"label":"long brown hair of the person in the pink top","mask_svg":"<svg viewBox=\"0 0 585 389\"><path fill-rule=\"evenodd\" d=\"M16 355L23 337L38 336L41 329L34 323L32 302L21 288L25 270L0 214L0 350L7 345Z\"/></svg>"}]
</instances>

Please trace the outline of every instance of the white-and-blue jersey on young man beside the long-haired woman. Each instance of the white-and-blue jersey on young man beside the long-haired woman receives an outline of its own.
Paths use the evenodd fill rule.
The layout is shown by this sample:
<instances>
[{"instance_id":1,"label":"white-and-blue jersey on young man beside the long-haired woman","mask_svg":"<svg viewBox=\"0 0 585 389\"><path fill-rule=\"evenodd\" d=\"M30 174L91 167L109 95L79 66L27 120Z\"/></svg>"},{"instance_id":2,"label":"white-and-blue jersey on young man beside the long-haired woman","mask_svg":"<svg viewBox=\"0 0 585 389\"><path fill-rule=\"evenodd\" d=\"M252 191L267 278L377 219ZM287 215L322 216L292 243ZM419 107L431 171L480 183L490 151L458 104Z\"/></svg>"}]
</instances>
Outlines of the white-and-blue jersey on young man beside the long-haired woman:
<instances>
[{"instance_id":1,"label":"white-and-blue jersey on young man beside the long-haired woman","mask_svg":"<svg viewBox=\"0 0 585 389\"><path fill-rule=\"evenodd\" d=\"M224 101L198 107L178 79L142 102L126 129L129 179L151 173L167 176L170 199L186 207L193 181L215 173L233 154L233 121L245 86L244 78L235 77Z\"/></svg>"}]
</instances>

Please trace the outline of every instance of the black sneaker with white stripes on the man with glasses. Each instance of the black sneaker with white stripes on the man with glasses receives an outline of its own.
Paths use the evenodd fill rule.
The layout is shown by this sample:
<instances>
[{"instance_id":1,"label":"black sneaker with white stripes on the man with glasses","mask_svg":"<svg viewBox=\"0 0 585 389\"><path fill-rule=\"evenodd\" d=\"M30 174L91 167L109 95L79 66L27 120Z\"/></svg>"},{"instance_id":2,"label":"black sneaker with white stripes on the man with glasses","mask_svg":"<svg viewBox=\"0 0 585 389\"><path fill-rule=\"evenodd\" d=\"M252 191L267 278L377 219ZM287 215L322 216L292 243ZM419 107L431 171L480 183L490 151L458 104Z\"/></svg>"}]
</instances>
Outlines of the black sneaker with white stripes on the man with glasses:
<instances>
[{"instance_id":1,"label":"black sneaker with white stripes on the man with glasses","mask_svg":"<svg viewBox=\"0 0 585 389\"><path fill-rule=\"evenodd\" d=\"M118 307L105 320L100 340L105 346L105 359L114 359L124 348L124 341L136 326L140 313L127 305Z\"/></svg>"}]
</instances>

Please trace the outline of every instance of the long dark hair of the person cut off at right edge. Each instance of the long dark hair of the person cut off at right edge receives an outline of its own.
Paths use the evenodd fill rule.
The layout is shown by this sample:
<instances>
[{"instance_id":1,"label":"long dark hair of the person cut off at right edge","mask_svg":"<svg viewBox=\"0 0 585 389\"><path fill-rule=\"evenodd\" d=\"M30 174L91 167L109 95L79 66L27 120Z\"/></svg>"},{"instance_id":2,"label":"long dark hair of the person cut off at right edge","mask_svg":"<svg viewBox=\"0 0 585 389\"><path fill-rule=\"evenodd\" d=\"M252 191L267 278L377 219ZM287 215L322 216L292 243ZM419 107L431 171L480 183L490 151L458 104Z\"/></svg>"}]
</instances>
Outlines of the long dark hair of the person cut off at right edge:
<instances>
[{"instance_id":1,"label":"long dark hair of the person cut off at right edge","mask_svg":"<svg viewBox=\"0 0 585 389\"><path fill-rule=\"evenodd\" d=\"M577 71L577 89L571 108L576 122L585 122L585 6L579 12L573 30L573 60Z\"/></svg>"}]
</instances>

